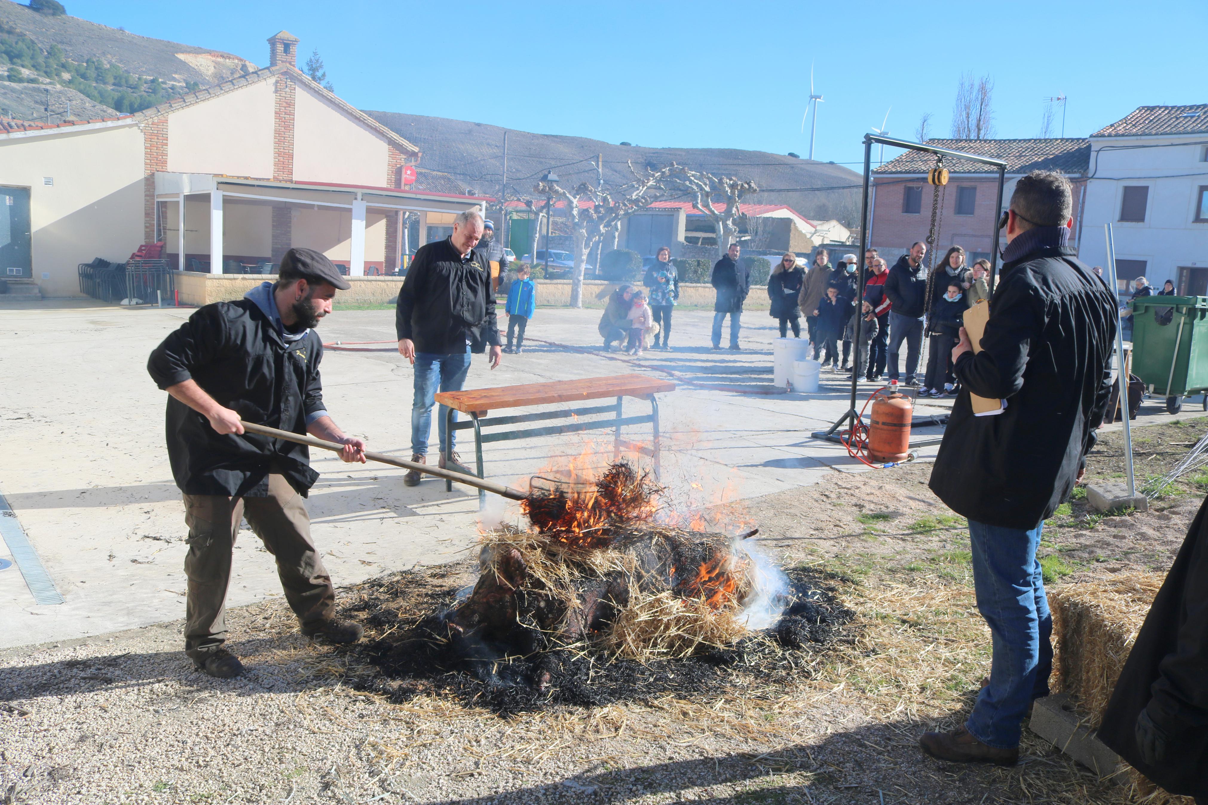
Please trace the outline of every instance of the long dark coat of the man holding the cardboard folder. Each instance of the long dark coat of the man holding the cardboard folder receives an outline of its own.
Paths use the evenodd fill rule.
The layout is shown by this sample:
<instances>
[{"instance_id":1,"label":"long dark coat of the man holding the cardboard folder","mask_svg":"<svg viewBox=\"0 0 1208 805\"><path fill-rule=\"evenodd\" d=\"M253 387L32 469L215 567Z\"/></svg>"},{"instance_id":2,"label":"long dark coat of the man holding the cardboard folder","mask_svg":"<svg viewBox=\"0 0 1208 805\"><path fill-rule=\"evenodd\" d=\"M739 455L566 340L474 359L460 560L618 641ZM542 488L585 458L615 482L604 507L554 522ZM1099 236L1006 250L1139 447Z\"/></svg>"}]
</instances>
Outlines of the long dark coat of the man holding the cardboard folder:
<instances>
[{"instance_id":1,"label":"long dark coat of the man holding the cardboard folder","mask_svg":"<svg viewBox=\"0 0 1208 805\"><path fill-rule=\"evenodd\" d=\"M1111 391L1116 304L1074 253L1044 247L1004 263L982 351L953 368L962 389L930 486L970 520L1035 527L1094 445ZM970 393L1006 399L1006 410L974 416Z\"/></svg>"}]
</instances>

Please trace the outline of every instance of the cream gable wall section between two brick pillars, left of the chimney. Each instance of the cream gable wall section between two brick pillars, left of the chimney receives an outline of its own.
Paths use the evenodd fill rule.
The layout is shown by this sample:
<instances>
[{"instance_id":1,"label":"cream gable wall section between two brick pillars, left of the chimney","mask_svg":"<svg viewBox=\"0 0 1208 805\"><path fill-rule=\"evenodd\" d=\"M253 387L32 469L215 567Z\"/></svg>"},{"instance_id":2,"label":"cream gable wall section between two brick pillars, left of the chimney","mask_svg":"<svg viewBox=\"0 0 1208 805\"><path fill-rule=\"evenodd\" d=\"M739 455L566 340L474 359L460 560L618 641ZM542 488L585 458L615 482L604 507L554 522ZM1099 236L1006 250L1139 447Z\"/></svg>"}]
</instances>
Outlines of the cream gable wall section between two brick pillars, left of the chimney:
<instances>
[{"instance_id":1,"label":"cream gable wall section between two brick pillars, left of the chimney","mask_svg":"<svg viewBox=\"0 0 1208 805\"><path fill-rule=\"evenodd\" d=\"M168 170L273 177L273 82L168 115Z\"/></svg>"}]
</instances>

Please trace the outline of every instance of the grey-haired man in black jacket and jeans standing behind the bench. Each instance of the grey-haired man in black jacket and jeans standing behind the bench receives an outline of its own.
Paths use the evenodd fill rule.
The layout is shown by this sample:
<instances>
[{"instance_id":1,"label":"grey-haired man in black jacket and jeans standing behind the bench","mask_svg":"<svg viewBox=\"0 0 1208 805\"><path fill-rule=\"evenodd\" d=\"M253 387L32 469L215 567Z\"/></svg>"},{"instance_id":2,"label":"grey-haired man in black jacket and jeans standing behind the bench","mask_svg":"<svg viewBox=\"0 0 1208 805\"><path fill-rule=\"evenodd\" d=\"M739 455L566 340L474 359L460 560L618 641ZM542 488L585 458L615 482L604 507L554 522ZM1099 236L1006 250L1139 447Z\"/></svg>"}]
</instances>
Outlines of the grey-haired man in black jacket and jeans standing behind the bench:
<instances>
[{"instance_id":1,"label":"grey-haired man in black jacket and jeans standing behind the bench","mask_svg":"<svg viewBox=\"0 0 1208 805\"><path fill-rule=\"evenodd\" d=\"M478 210L459 212L453 220L452 235L419 247L399 291L394 322L399 354L416 367L411 460L417 463L426 461L437 390L461 390L470 372L471 351L482 352L489 348L492 369L499 366L503 356L490 263L487 255L476 249L482 229ZM447 432L446 414L447 409L441 406L437 414L440 466L472 476L475 473L453 450L454 434ZM412 469L402 480L416 486L420 473Z\"/></svg>"}]
</instances>

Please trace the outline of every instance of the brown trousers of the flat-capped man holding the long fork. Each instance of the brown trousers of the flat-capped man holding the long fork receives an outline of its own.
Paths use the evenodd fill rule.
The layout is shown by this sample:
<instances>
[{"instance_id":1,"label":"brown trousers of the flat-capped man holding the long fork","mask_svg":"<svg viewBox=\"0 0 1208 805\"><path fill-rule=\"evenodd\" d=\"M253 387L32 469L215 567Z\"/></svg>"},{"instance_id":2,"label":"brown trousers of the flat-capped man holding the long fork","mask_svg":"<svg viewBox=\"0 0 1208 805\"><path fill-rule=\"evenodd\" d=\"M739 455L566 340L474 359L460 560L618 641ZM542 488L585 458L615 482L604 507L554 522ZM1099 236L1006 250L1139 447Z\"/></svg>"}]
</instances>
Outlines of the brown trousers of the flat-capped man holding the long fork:
<instances>
[{"instance_id":1,"label":"brown trousers of the flat-capped man holding the long fork","mask_svg":"<svg viewBox=\"0 0 1208 805\"><path fill-rule=\"evenodd\" d=\"M191 658L204 661L226 642L226 594L243 518L277 558L285 600L298 620L312 624L332 617L336 593L310 541L310 518L302 496L284 476L268 477L267 497L184 497L188 525L185 652Z\"/></svg>"}]
</instances>

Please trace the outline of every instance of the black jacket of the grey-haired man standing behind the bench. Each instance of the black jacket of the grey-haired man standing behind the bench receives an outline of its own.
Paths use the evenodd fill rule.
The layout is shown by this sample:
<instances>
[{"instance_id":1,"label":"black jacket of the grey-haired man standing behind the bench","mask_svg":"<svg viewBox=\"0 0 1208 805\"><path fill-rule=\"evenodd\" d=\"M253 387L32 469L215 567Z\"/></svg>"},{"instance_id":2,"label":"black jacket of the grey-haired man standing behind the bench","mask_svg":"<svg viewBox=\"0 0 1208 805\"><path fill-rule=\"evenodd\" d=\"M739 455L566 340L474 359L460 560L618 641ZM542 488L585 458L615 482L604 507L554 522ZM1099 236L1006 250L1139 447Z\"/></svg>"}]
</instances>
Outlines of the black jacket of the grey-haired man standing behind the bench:
<instances>
[{"instance_id":1,"label":"black jacket of the grey-haired man standing behind the bench","mask_svg":"<svg viewBox=\"0 0 1208 805\"><path fill-rule=\"evenodd\" d=\"M410 338L417 352L454 355L466 343L482 352L499 346L490 264L480 249L461 255L448 238L420 246L399 291L394 327Z\"/></svg>"}]
</instances>

